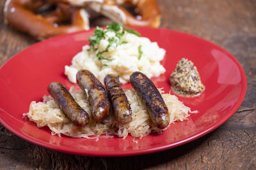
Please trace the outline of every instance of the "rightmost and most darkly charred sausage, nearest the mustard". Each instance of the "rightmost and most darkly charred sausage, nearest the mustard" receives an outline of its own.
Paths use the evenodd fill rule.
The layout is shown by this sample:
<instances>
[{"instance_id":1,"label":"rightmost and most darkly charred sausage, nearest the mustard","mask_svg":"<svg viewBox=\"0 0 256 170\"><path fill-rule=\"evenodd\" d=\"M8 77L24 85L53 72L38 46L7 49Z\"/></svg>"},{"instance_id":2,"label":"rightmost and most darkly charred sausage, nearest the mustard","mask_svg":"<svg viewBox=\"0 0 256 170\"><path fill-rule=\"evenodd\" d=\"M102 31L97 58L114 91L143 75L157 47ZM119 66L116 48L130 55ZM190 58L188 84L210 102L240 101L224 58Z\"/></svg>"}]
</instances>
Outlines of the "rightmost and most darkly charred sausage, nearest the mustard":
<instances>
[{"instance_id":1,"label":"rightmost and most darkly charred sausage, nearest the mustard","mask_svg":"<svg viewBox=\"0 0 256 170\"><path fill-rule=\"evenodd\" d=\"M152 122L159 129L164 129L170 123L168 108L154 83L138 71L130 76L131 85L147 106Z\"/></svg>"}]
</instances>

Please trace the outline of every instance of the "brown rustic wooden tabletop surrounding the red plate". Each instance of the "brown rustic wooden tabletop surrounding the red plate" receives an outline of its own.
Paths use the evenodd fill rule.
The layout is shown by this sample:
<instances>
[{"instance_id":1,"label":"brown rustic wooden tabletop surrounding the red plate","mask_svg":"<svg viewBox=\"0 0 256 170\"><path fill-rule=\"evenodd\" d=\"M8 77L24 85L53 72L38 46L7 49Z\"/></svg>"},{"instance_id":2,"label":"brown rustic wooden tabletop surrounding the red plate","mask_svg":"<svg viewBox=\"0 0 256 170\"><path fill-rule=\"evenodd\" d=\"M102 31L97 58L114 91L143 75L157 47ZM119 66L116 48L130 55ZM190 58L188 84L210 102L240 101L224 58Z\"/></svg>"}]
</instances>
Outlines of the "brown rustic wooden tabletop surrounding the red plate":
<instances>
[{"instance_id":1,"label":"brown rustic wooden tabletop surrounding the red plate","mask_svg":"<svg viewBox=\"0 0 256 170\"><path fill-rule=\"evenodd\" d=\"M0 65L36 43L4 24L0 1ZM222 46L241 63L248 89L236 113L186 145L134 157L83 157L18 138L0 125L0 169L256 169L256 1L159 0L161 27ZM108 21L98 23L107 23Z\"/></svg>"}]
</instances>

